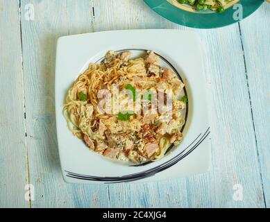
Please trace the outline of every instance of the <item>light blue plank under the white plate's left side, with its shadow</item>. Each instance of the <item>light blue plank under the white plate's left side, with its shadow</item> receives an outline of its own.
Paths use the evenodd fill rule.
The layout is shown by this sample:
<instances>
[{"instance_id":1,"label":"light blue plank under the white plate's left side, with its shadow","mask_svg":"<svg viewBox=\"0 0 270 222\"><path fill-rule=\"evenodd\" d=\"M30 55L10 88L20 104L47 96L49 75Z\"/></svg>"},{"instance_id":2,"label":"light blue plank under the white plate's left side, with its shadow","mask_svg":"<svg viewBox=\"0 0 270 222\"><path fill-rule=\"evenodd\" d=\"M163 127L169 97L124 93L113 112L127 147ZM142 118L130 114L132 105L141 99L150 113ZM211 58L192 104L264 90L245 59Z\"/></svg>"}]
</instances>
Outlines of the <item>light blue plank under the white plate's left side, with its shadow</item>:
<instances>
[{"instance_id":1,"label":"light blue plank under the white plate's left side, with its shadow","mask_svg":"<svg viewBox=\"0 0 270 222\"><path fill-rule=\"evenodd\" d=\"M90 1L22 1L35 10L22 14L26 130L32 207L107 207L106 185L67 185L62 180L56 138L54 69L56 41L62 35L92 31Z\"/></svg>"}]
</instances>

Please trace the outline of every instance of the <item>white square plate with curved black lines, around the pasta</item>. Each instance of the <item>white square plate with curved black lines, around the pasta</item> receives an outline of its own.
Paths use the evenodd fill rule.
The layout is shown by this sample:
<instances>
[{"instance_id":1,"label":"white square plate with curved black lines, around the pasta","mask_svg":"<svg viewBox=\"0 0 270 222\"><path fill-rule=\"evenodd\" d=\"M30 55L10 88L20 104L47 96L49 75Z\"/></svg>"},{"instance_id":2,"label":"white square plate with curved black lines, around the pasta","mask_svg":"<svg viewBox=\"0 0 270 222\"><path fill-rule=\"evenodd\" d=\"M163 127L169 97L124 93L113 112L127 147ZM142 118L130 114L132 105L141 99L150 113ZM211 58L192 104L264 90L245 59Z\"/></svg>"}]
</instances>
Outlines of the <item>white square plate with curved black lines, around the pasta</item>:
<instances>
[{"instance_id":1,"label":"white square plate with curved black lines, around the pasta","mask_svg":"<svg viewBox=\"0 0 270 222\"><path fill-rule=\"evenodd\" d=\"M184 139L162 160L140 167L118 164L90 151L67 128L62 115L74 80L109 50L146 49L160 55L185 83L188 96ZM56 123L62 174L71 183L115 183L191 176L210 168L208 97L199 39L177 30L108 31L60 37L56 56Z\"/></svg>"}]
</instances>

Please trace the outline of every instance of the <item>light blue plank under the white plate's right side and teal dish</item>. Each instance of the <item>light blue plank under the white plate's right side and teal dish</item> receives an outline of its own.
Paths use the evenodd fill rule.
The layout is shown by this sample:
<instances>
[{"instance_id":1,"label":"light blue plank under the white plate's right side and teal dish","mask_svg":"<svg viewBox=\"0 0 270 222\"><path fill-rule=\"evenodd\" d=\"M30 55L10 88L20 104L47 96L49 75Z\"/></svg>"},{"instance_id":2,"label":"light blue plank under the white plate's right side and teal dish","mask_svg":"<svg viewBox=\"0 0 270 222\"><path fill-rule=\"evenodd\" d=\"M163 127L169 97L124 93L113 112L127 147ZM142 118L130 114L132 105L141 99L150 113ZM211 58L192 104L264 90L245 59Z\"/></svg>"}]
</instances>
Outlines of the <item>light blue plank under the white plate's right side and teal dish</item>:
<instances>
[{"instance_id":1,"label":"light blue plank under the white plate's right side and teal dish","mask_svg":"<svg viewBox=\"0 0 270 222\"><path fill-rule=\"evenodd\" d=\"M96 0L94 9L95 31L188 29L162 19L142 1ZM109 186L112 207L264 207L239 28L235 24L196 32L205 49L210 83L212 169L201 176L136 185L130 193L130 185ZM233 199L238 183L244 189L243 201Z\"/></svg>"}]
</instances>

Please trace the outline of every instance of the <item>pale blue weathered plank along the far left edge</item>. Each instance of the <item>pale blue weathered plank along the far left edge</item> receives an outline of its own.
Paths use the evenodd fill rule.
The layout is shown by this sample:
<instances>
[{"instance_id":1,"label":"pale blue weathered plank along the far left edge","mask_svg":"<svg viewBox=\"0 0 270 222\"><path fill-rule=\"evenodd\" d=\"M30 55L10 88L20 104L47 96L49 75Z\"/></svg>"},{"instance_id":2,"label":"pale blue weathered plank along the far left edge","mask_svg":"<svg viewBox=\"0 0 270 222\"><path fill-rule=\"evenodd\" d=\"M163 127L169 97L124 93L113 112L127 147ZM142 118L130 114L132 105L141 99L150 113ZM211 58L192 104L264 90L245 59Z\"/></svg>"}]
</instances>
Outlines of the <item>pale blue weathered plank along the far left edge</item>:
<instances>
[{"instance_id":1,"label":"pale blue weathered plank along the far left edge","mask_svg":"<svg viewBox=\"0 0 270 222\"><path fill-rule=\"evenodd\" d=\"M17 1L0 1L0 207L28 207L22 51Z\"/></svg>"}]
</instances>

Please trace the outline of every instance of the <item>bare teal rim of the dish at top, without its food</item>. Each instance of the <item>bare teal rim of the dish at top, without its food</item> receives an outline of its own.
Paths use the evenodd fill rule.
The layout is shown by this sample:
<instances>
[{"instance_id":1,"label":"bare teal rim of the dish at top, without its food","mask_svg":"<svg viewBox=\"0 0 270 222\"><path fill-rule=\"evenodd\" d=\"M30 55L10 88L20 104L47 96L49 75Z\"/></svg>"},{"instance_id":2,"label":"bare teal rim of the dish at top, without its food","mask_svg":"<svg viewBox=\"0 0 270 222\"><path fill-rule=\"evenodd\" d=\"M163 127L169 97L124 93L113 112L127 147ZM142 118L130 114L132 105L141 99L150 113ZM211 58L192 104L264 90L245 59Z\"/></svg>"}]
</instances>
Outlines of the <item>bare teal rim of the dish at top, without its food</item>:
<instances>
[{"instance_id":1,"label":"bare teal rim of the dish at top, without its food","mask_svg":"<svg viewBox=\"0 0 270 222\"><path fill-rule=\"evenodd\" d=\"M188 12L173 6L167 0L144 0L146 4L162 17L171 22L191 28L219 28L239 22L237 10L239 7L230 7L224 12L201 13ZM242 19L251 15L257 10L264 0L242 0Z\"/></svg>"}]
</instances>

